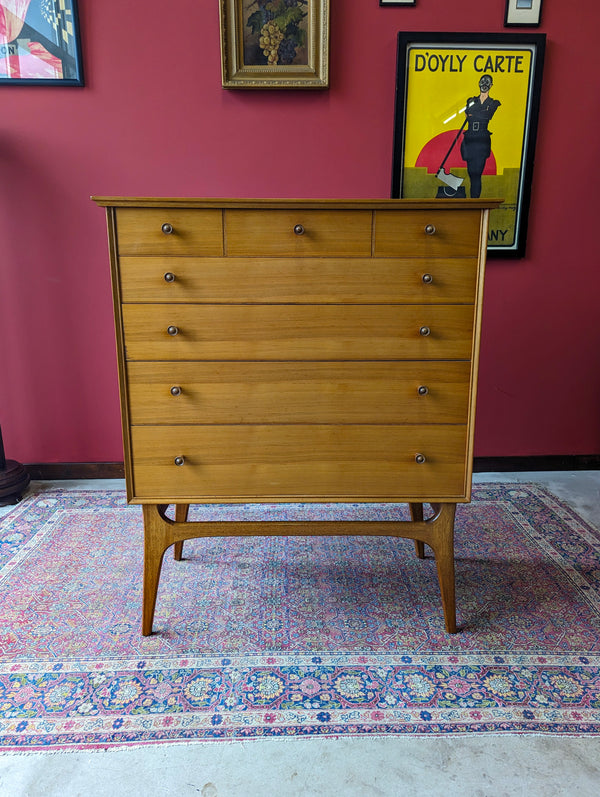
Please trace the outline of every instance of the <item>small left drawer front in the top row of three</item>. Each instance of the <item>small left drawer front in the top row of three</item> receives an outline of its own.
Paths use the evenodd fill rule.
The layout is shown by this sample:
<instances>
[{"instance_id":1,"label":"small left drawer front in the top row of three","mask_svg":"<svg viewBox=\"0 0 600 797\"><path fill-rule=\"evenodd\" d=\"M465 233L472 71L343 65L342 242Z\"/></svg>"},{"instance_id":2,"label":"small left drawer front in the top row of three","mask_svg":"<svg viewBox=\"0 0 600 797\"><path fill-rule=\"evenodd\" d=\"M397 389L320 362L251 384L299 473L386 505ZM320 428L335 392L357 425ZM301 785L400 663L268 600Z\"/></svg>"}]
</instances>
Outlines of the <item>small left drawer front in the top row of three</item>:
<instances>
[{"instance_id":1,"label":"small left drawer front in the top row of three","mask_svg":"<svg viewBox=\"0 0 600 797\"><path fill-rule=\"evenodd\" d=\"M221 210L118 208L119 255L223 254Z\"/></svg>"}]
</instances>

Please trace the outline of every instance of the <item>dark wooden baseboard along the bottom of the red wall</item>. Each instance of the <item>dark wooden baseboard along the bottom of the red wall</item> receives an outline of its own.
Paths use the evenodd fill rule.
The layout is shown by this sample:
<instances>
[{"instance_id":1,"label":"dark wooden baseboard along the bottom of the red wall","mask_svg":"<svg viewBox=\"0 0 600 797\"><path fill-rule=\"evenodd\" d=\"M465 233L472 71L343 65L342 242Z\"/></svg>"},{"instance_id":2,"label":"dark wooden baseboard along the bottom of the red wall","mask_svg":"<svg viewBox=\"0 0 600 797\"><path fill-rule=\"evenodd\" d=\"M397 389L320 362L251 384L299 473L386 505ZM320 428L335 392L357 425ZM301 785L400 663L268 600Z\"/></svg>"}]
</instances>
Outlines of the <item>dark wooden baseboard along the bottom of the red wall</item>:
<instances>
[{"instance_id":1,"label":"dark wooden baseboard along the bottom of the red wall","mask_svg":"<svg viewBox=\"0 0 600 797\"><path fill-rule=\"evenodd\" d=\"M122 462L36 462L25 465L35 481L62 479L123 479ZM475 473L510 471L600 470L600 455L558 455L537 457L475 457Z\"/></svg>"}]
</instances>

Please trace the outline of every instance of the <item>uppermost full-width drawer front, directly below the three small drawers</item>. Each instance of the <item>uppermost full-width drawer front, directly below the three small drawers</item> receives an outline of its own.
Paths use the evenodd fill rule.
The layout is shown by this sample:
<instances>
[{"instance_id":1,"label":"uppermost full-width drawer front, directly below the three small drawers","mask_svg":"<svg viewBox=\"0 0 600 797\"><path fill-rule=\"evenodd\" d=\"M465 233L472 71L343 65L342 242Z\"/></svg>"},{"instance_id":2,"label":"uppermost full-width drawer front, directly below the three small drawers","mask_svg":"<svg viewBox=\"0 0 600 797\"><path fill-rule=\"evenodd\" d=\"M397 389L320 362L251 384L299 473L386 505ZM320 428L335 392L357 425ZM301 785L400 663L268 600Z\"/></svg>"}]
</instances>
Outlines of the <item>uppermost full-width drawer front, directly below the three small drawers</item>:
<instances>
[{"instance_id":1,"label":"uppermost full-width drawer front, directly below the three small drawers","mask_svg":"<svg viewBox=\"0 0 600 797\"><path fill-rule=\"evenodd\" d=\"M124 302L472 303L476 258L122 257Z\"/></svg>"}]
</instances>

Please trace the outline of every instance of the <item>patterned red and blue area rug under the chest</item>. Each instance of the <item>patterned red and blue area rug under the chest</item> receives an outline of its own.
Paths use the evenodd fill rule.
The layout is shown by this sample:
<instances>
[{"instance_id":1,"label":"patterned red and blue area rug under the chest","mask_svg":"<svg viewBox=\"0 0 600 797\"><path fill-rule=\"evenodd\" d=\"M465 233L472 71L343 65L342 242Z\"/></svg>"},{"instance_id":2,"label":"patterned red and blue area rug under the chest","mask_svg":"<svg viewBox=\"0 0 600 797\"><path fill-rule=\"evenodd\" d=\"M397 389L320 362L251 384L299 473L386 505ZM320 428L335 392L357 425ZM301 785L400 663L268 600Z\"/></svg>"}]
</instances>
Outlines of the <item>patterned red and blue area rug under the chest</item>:
<instances>
[{"instance_id":1,"label":"patterned red and blue area rug under the chest","mask_svg":"<svg viewBox=\"0 0 600 797\"><path fill-rule=\"evenodd\" d=\"M398 517L376 505L193 519ZM600 535L533 485L459 506L460 633L435 563L389 537L193 540L140 628L121 492L31 494L0 527L0 750L260 736L600 733Z\"/></svg>"}]
</instances>

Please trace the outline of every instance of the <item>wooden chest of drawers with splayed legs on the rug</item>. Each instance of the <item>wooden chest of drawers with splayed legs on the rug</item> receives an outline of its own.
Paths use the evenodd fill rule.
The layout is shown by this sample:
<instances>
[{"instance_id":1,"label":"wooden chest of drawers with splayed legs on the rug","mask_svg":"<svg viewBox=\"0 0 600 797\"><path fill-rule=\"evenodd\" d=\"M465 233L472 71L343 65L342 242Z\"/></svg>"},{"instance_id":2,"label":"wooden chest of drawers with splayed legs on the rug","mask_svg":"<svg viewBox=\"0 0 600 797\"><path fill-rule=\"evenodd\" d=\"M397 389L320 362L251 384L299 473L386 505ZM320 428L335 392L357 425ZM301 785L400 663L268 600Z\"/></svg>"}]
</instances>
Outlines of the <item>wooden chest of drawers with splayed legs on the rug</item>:
<instances>
[{"instance_id":1,"label":"wooden chest of drawers with splayed legs on the rug","mask_svg":"<svg viewBox=\"0 0 600 797\"><path fill-rule=\"evenodd\" d=\"M393 534L456 630L496 201L95 197L106 207L143 633L163 553L213 534ZM192 503L407 502L404 523L190 523ZM176 519L165 510L176 505ZM423 504L433 506L424 517Z\"/></svg>"}]
</instances>

